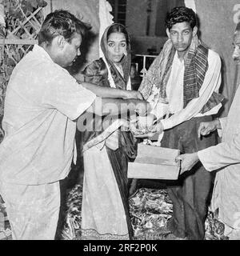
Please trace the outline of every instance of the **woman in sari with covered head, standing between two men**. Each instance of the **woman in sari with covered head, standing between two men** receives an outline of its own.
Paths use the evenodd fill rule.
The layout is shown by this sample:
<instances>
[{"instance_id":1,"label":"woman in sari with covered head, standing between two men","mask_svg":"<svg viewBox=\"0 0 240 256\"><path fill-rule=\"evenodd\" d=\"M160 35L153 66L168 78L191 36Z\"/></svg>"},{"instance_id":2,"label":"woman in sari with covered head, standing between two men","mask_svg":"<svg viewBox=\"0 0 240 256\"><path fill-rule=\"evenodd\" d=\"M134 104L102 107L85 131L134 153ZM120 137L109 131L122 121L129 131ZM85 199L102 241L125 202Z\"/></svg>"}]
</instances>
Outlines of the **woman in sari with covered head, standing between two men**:
<instances>
[{"instance_id":1,"label":"woman in sari with covered head, standing between two men","mask_svg":"<svg viewBox=\"0 0 240 256\"><path fill-rule=\"evenodd\" d=\"M118 23L108 26L102 35L101 49L104 57L83 71L85 82L131 90L130 39L126 28ZM120 126L124 122L118 117L110 126L97 115L92 122L85 118L93 129L82 133L82 238L132 239L126 173L128 161L136 157L137 142L130 131L122 131ZM78 130L80 122L79 119Z\"/></svg>"}]
</instances>

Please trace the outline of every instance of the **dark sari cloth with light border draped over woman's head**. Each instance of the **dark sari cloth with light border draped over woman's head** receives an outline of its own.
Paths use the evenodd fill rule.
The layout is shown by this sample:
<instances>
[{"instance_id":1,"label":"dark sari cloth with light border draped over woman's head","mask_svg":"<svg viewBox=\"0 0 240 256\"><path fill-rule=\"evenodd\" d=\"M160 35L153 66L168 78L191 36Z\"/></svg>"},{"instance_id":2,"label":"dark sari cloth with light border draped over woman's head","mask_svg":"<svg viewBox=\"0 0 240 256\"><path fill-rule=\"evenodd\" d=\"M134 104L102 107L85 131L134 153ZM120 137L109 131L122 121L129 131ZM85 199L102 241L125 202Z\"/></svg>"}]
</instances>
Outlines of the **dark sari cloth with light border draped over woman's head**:
<instances>
[{"instance_id":1,"label":"dark sari cloth with light border draped over woman's head","mask_svg":"<svg viewBox=\"0 0 240 256\"><path fill-rule=\"evenodd\" d=\"M119 73L118 69L114 65L114 62L110 60L110 57L108 55L107 39L111 33L122 33L126 37L126 53L124 54L120 62L122 66L123 77L122 77L122 74ZM105 58L103 59L104 61L106 61L106 64L109 66L110 73L112 78L114 79L116 88L126 90L126 84L130 78L130 65L131 65L130 37L126 31L126 27L120 23L113 23L110 26L108 26L102 35L100 46Z\"/></svg>"}]
</instances>

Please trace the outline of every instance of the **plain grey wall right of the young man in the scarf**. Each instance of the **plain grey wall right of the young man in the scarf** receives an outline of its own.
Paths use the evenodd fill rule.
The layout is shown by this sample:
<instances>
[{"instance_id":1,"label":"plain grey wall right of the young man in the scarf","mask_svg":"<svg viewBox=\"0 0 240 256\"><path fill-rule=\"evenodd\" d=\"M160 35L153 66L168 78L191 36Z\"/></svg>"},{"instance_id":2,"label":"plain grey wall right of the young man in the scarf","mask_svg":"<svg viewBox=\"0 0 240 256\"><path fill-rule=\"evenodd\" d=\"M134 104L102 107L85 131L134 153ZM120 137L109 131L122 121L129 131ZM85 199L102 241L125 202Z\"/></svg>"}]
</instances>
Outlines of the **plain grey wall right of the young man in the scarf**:
<instances>
[{"instance_id":1,"label":"plain grey wall right of the young man in the scarf","mask_svg":"<svg viewBox=\"0 0 240 256\"><path fill-rule=\"evenodd\" d=\"M233 34L240 14L240 2L239 0L195 0L195 5L200 20L202 40L222 58L222 94L227 99L222 116L225 116L239 83L239 81L234 82L237 66L231 55Z\"/></svg>"}]
</instances>

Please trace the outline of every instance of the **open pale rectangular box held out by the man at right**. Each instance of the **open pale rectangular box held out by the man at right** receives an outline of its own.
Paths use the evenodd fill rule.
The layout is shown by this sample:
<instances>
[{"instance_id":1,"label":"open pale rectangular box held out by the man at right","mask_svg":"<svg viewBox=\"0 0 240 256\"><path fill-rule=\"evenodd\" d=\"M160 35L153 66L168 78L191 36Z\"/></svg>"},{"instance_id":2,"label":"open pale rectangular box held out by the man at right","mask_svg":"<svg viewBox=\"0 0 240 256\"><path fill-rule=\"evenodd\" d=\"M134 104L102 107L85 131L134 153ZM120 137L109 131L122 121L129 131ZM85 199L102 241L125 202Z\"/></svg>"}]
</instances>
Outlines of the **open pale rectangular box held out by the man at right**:
<instances>
[{"instance_id":1,"label":"open pale rectangular box held out by the man at right","mask_svg":"<svg viewBox=\"0 0 240 256\"><path fill-rule=\"evenodd\" d=\"M180 166L175 158L179 150L138 144L138 156L128 163L127 178L178 179Z\"/></svg>"}]
</instances>

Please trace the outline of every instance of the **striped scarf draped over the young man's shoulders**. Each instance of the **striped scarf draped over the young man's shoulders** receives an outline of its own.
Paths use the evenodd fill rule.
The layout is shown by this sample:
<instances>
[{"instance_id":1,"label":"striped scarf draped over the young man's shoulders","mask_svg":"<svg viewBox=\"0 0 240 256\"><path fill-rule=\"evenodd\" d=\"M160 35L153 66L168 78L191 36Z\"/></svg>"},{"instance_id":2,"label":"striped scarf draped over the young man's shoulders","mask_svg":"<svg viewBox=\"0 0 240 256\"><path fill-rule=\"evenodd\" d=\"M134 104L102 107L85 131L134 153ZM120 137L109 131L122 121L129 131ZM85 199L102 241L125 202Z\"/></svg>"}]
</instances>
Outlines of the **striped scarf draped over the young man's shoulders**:
<instances>
[{"instance_id":1,"label":"striped scarf draped over the young man's shoulders","mask_svg":"<svg viewBox=\"0 0 240 256\"><path fill-rule=\"evenodd\" d=\"M155 58L154 62L147 71L145 78L143 78L141 86L139 87L145 99L152 94L153 86L155 85L159 90L158 102L168 103L166 97L166 85L170 78L170 72L174 60L176 50L171 42L167 40L162 48L161 53ZM184 78L183 78L183 103L184 107L194 98L199 97L199 90L208 70L208 48L198 40L195 35L190 43L189 50L184 56ZM214 92L205 106L202 107L200 113L205 113L214 106L222 102L223 97Z\"/></svg>"}]
</instances>

